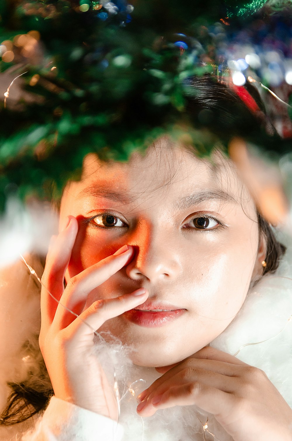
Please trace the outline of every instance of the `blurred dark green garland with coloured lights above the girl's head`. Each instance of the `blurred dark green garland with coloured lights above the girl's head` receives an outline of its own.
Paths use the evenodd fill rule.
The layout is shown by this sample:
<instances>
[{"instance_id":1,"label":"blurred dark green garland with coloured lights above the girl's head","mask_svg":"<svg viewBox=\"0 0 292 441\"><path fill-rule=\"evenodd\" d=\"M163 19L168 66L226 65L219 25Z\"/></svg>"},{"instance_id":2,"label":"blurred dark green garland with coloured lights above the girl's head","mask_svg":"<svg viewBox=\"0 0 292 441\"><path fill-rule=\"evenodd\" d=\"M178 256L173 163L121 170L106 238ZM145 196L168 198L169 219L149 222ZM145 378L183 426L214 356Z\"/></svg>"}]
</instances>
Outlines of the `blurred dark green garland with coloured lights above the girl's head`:
<instances>
[{"instance_id":1,"label":"blurred dark green garland with coloured lights above the girl's head","mask_svg":"<svg viewBox=\"0 0 292 441\"><path fill-rule=\"evenodd\" d=\"M238 23L243 8L261 5L2 3L0 75L7 90L0 104L0 208L11 191L44 197L52 183L61 191L67 179L79 176L86 153L126 161L163 133L185 142L186 127L187 142L198 155L209 155L212 127L202 131L200 119L190 121L187 106L195 91L187 78L230 76L221 61L232 27L225 19L237 14ZM274 149L276 138L265 133L251 141ZM221 133L226 148L229 138L226 129Z\"/></svg>"}]
</instances>

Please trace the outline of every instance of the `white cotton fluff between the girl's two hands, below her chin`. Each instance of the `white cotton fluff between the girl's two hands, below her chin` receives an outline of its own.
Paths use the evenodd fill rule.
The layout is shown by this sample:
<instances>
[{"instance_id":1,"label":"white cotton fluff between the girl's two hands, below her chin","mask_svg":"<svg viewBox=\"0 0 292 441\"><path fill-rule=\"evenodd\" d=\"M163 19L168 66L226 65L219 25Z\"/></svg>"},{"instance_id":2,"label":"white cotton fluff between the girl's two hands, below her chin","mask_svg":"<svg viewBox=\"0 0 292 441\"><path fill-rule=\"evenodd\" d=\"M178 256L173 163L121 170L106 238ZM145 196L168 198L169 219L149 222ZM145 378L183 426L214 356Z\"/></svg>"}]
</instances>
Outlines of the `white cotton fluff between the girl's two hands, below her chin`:
<instances>
[{"instance_id":1,"label":"white cotton fluff between the girl's two hands, below her chin","mask_svg":"<svg viewBox=\"0 0 292 441\"><path fill-rule=\"evenodd\" d=\"M105 337L108 340L109 334ZM124 428L123 441L191 441L203 439L202 424L206 423L208 415L195 406L176 406L159 410L149 418L140 417L136 412L136 407L139 404L136 397L161 374L158 374L154 368L134 365L129 358L131 351L116 340L112 340L110 346L100 343L99 339L97 340L98 344L94 347L94 352L108 374L112 385L114 377L112 363L115 365L115 374L120 390L119 422ZM133 396L133 393L135 393L135 396ZM209 421L211 418L213 417L210 415ZM198 433L198 438L195 437L196 433ZM231 437L226 437L226 433L222 428L217 430L218 434L225 436L225 438L222 438L224 441L232 440Z\"/></svg>"}]
</instances>

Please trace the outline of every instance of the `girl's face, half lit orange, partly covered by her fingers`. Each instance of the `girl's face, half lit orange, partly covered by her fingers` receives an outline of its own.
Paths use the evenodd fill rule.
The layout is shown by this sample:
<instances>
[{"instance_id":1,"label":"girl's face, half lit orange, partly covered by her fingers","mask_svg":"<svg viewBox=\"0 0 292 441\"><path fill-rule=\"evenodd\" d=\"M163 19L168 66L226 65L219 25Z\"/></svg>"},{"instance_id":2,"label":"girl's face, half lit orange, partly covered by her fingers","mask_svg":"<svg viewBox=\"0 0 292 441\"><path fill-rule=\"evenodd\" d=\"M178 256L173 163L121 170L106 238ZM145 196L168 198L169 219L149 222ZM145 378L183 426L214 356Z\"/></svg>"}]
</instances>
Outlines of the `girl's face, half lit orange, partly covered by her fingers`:
<instances>
[{"instance_id":1,"label":"girl's face, half lit orange, partly covered by her fingers","mask_svg":"<svg viewBox=\"0 0 292 441\"><path fill-rule=\"evenodd\" d=\"M134 311L99 329L135 348L136 364L176 363L209 344L236 316L260 271L265 256L254 202L232 165L220 154L215 162L214 168L169 144L145 157L135 152L127 163L88 155L82 179L64 191L60 228L69 215L79 221L66 280L125 244L135 250L130 263L90 292L85 308L143 287L144 309L182 310L151 326L146 313Z\"/></svg>"}]
</instances>

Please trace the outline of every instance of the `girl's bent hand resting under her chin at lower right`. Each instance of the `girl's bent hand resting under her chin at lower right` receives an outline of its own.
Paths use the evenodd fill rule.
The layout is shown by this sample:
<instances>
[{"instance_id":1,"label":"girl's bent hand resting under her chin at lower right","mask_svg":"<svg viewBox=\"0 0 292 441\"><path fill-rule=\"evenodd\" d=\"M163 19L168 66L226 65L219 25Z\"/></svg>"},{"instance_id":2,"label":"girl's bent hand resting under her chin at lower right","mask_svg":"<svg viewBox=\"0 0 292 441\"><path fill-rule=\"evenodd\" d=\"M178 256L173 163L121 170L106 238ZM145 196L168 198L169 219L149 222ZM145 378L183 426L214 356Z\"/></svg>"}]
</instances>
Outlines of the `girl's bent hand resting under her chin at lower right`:
<instances>
[{"instance_id":1,"label":"girl's bent hand resting under her chin at lower right","mask_svg":"<svg viewBox=\"0 0 292 441\"><path fill-rule=\"evenodd\" d=\"M139 396L142 417L195 404L234 441L292 441L292 409L262 370L210 347L157 370L163 375Z\"/></svg>"}]
</instances>

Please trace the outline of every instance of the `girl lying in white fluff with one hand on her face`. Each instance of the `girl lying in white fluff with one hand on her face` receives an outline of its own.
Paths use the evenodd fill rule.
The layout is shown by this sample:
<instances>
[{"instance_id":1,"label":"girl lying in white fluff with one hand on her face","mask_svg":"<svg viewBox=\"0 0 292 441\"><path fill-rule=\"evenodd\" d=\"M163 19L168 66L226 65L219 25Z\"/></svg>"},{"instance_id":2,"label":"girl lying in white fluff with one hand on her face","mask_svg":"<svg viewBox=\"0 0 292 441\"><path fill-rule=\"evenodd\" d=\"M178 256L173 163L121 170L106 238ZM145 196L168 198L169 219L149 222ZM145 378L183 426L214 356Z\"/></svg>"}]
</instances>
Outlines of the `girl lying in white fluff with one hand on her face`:
<instances>
[{"instance_id":1,"label":"girl lying in white fluff with one hand on her face","mask_svg":"<svg viewBox=\"0 0 292 441\"><path fill-rule=\"evenodd\" d=\"M240 134L247 117L256 130L257 115L238 90L210 78L196 84L201 95L192 98L189 112L201 125L207 109L213 133L224 129L217 121L222 114L225 123L234 120L231 134ZM21 381L10 381L17 392L3 406L2 422L41 412L32 419L34 429L17 438L23 441L291 441L291 379L280 369L291 366L291 349L283 345L278 363L277 342L271 355L264 343L263 351L250 346L247 359L256 366L243 362L244 350L232 355L284 327L291 290L283 303L272 287L274 297L261 314L261 286L267 297L272 286L261 282L270 280L284 251L220 145L210 159L168 136L126 163L87 155L81 180L64 189L59 234L42 277L38 341L51 388L45 369L38 384L27 380L38 372L30 366L22 379L30 393L15 387ZM34 259L27 262L38 272ZM268 314L275 316L268 319L272 332L262 338ZM95 330L102 336L97 340ZM31 353L39 363L37 351ZM278 388L269 379L273 370ZM15 433L4 437L15 439Z\"/></svg>"}]
</instances>

